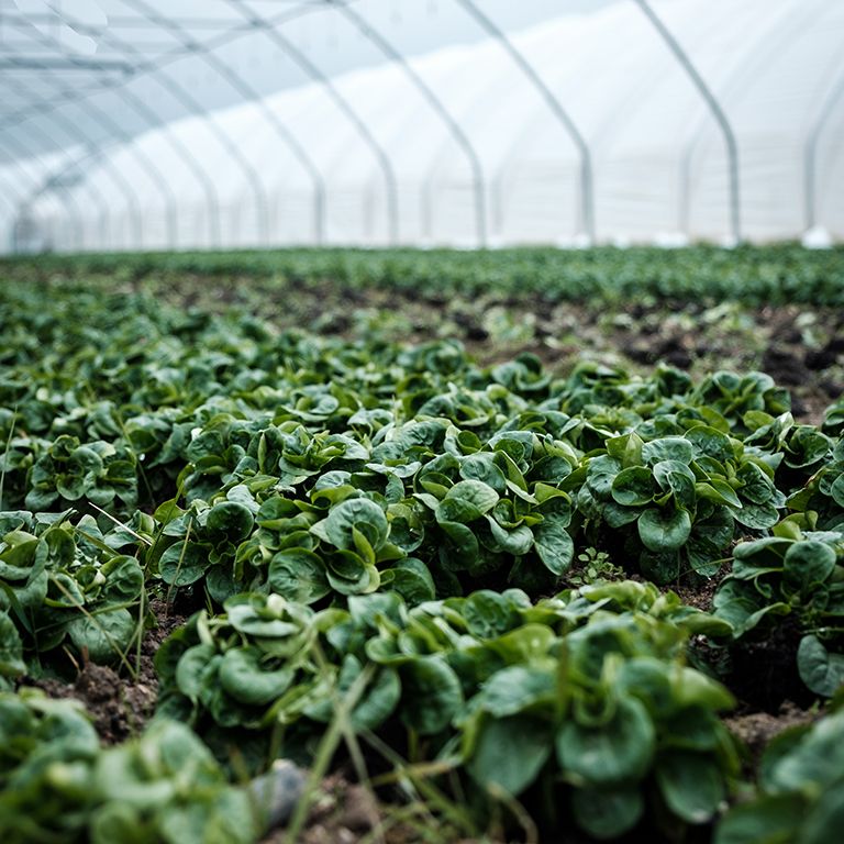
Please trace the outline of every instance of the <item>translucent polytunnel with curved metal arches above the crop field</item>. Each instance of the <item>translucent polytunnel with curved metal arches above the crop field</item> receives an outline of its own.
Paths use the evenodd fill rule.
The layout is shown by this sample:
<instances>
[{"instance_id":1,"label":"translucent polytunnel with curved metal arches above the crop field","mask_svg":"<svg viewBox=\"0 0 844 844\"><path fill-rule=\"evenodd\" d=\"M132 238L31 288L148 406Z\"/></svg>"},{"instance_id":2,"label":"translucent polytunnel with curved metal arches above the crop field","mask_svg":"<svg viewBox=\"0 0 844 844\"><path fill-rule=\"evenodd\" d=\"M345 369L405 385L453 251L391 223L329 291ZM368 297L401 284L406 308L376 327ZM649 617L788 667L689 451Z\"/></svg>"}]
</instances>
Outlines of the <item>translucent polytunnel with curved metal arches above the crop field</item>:
<instances>
[{"instance_id":1,"label":"translucent polytunnel with curved metal arches above the crop field","mask_svg":"<svg viewBox=\"0 0 844 844\"><path fill-rule=\"evenodd\" d=\"M0 34L8 252L844 236L841 3L2 0Z\"/></svg>"}]
</instances>

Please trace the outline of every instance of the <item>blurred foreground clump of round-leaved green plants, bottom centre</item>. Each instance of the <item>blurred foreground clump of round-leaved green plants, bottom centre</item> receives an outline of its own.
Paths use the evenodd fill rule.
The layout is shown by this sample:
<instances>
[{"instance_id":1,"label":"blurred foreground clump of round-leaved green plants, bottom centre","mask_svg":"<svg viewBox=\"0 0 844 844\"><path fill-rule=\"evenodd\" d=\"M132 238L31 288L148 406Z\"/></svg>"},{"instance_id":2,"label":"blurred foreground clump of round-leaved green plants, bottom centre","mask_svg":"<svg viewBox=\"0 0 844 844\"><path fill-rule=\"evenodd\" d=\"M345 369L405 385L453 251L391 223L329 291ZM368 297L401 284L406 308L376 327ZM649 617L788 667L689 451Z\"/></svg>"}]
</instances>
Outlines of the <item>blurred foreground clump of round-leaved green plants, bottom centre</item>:
<instances>
[{"instance_id":1,"label":"blurred foreground clump of round-leaved green plants, bottom centre","mask_svg":"<svg viewBox=\"0 0 844 844\"><path fill-rule=\"evenodd\" d=\"M685 665L692 631L726 625L655 587L535 604L480 591L410 610L375 593L316 613L245 595L225 609L195 617L156 659L164 711L200 730L275 731L284 753L307 755L332 701L363 680L356 731L404 732L413 762L464 771L479 799L562 788L598 837L633 828L648 806L704 822L732 787L737 756L717 717L732 698Z\"/></svg>"}]
</instances>

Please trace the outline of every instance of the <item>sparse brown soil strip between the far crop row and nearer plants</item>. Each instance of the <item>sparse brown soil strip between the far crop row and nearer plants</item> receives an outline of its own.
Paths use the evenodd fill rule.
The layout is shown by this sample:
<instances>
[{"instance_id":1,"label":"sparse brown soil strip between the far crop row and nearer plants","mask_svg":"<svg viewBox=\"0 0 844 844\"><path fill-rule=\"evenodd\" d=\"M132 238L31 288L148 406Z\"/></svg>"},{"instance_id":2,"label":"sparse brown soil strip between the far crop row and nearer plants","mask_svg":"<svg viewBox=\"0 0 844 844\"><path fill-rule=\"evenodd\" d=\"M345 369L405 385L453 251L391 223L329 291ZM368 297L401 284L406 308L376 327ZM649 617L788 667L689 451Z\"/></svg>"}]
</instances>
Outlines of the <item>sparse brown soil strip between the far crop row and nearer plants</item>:
<instances>
[{"instance_id":1,"label":"sparse brown soil strip between the far crop row and nearer plants","mask_svg":"<svg viewBox=\"0 0 844 844\"><path fill-rule=\"evenodd\" d=\"M255 279L233 288L249 284ZM226 304L243 296L231 291ZM299 285L295 292L271 290L255 315L279 329L308 327L347 338L375 334L424 343L457 337L481 365L526 351L558 375L582 359L632 371L666 363L695 378L718 369L756 369L789 389L795 418L810 424L819 424L826 407L844 393L844 324L831 308L634 302L608 309L490 296L455 301L413 290L343 290L327 281ZM242 303L253 302L245 297Z\"/></svg>"}]
</instances>

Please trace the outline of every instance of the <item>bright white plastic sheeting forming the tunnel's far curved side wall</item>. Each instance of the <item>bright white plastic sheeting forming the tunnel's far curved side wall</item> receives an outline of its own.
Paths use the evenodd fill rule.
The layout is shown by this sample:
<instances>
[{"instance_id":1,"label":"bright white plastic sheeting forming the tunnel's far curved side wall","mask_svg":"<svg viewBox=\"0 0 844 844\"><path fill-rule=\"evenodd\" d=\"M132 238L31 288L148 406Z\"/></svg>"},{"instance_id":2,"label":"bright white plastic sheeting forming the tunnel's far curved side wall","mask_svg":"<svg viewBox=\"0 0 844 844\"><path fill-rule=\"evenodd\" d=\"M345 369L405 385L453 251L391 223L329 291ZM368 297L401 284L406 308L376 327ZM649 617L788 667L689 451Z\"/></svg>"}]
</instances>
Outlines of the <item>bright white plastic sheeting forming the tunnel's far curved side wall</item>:
<instances>
[{"instance_id":1,"label":"bright white plastic sheeting forming the tunnel's far curved side wall","mask_svg":"<svg viewBox=\"0 0 844 844\"><path fill-rule=\"evenodd\" d=\"M482 0L477 2L482 8ZM799 238L814 227L844 238L844 3L654 0L652 7L733 127L743 235ZM723 134L632 0L543 23L512 41L588 144L599 242L729 238ZM490 40L441 49L413 59L412 67L477 152L488 244L582 241L578 151L501 44ZM387 64L333 84L389 156L398 242L477 245L478 186L469 160L404 69ZM326 191L324 242L388 244L384 168L324 86L286 90L264 102L319 170ZM244 168L209 130L209 120L257 170L266 197L249 188ZM208 186L176 154L173 134L211 176L213 202ZM144 168L144 156L166 175L169 198ZM43 190L30 202L26 234L36 231L38 245L112 249L316 242L314 179L255 103L179 120L166 131L114 145L106 160L92 158L82 167L80 181ZM48 171L36 162L23 168ZM115 173L133 196L120 189ZM7 191L7 198L14 192ZM14 202L0 211L7 226L13 221L10 206Z\"/></svg>"}]
</instances>

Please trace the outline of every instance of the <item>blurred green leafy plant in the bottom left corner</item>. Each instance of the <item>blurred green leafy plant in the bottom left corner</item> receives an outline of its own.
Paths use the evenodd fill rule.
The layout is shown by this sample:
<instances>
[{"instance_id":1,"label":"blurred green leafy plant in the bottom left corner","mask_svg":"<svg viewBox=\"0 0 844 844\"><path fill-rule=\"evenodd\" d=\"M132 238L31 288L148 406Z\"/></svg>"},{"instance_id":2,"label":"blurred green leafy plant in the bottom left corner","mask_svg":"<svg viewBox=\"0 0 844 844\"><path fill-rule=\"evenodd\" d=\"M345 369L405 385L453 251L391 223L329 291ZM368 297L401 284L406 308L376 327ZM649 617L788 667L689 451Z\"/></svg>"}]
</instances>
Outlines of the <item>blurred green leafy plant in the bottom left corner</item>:
<instances>
[{"instance_id":1,"label":"blurred green leafy plant in the bottom left corner","mask_svg":"<svg viewBox=\"0 0 844 844\"><path fill-rule=\"evenodd\" d=\"M0 833L24 842L249 844L256 807L184 724L101 749L74 701L0 693Z\"/></svg>"}]
</instances>

